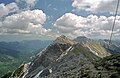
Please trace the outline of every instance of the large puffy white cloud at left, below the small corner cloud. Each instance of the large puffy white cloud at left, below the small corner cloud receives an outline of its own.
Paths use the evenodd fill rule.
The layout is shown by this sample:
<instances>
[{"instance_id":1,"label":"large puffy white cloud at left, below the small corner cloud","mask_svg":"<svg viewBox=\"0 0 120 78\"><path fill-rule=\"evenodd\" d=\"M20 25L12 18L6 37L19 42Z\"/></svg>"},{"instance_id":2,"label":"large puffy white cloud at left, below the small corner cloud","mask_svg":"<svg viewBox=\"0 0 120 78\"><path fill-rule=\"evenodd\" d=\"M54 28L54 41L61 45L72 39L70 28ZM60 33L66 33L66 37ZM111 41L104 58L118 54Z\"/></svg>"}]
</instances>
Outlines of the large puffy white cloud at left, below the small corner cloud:
<instances>
[{"instance_id":1,"label":"large puffy white cloud at left, below the small corner cloud","mask_svg":"<svg viewBox=\"0 0 120 78\"><path fill-rule=\"evenodd\" d=\"M4 34L38 34L44 35L50 29L43 27L46 14L42 10L27 10L7 16L2 21L0 32Z\"/></svg>"}]
</instances>

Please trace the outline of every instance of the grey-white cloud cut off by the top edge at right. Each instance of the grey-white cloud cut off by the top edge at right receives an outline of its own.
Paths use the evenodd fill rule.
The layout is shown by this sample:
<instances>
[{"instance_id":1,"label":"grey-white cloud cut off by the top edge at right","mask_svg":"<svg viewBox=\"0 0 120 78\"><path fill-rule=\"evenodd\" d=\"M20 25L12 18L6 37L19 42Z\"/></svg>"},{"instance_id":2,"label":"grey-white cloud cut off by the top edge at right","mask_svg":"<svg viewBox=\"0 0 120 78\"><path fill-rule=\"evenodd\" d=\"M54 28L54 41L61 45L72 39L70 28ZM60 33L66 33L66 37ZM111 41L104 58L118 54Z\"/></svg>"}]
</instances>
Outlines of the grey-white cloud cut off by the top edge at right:
<instances>
[{"instance_id":1,"label":"grey-white cloud cut off by the top edge at right","mask_svg":"<svg viewBox=\"0 0 120 78\"><path fill-rule=\"evenodd\" d=\"M72 6L76 9L90 11L93 13L114 13L116 5L117 0L73 0L72 3Z\"/></svg>"}]
</instances>

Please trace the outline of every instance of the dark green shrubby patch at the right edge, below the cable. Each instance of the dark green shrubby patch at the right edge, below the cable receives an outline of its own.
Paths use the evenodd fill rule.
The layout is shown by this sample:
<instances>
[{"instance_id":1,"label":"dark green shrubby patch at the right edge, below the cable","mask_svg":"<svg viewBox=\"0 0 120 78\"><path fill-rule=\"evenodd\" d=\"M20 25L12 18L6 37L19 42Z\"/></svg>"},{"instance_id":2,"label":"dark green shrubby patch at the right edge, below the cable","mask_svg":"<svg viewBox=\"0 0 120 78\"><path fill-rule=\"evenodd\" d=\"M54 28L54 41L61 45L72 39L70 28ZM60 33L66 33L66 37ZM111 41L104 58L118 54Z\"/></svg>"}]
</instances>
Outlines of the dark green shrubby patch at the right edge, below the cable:
<instances>
[{"instance_id":1,"label":"dark green shrubby patch at the right edge, below the cable","mask_svg":"<svg viewBox=\"0 0 120 78\"><path fill-rule=\"evenodd\" d=\"M120 54L113 54L99 61L96 67L103 66L107 70L120 72Z\"/></svg>"}]
</instances>

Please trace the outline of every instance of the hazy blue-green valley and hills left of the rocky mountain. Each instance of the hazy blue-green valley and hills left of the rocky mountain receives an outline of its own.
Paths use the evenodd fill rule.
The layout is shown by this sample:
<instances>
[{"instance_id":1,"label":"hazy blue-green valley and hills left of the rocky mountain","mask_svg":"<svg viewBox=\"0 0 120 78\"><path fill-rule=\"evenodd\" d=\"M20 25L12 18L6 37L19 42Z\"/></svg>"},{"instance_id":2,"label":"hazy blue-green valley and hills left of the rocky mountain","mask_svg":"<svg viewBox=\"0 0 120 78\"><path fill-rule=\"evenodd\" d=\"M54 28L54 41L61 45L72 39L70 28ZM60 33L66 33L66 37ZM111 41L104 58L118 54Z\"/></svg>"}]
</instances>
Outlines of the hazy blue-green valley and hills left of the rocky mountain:
<instances>
[{"instance_id":1,"label":"hazy blue-green valley and hills left of the rocky mountain","mask_svg":"<svg viewBox=\"0 0 120 78\"><path fill-rule=\"evenodd\" d=\"M38 52L52 41L0 42L0 77L15 70L23 62L33 59Z\"/></svg>"}]
</instances>

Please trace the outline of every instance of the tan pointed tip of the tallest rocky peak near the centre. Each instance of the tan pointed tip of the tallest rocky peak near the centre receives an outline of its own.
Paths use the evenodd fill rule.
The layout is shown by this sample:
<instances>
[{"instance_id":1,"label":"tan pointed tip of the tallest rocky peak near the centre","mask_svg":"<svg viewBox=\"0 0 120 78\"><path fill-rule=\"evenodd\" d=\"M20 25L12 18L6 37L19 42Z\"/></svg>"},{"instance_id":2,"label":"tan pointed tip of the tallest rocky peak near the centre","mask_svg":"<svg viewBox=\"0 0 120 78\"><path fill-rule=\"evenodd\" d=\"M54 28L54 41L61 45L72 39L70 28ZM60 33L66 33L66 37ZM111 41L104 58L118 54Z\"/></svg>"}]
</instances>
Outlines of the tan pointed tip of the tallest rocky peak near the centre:
<instances>
[{"instance_id":1,"label":"tan pointed tip of the tallest rocky peak near the centre","mask_svg":"<svg viewBox=\"0 0 120 78\"><path fill-rule=\"evenodd\" d=\"M73 44L75 44L75 41L67 38L65 35L61 35L61 36L57 37L57 39L54 41L54 43L73 45Z\"/></svg>"}]
</instances>

